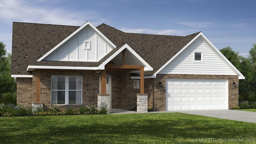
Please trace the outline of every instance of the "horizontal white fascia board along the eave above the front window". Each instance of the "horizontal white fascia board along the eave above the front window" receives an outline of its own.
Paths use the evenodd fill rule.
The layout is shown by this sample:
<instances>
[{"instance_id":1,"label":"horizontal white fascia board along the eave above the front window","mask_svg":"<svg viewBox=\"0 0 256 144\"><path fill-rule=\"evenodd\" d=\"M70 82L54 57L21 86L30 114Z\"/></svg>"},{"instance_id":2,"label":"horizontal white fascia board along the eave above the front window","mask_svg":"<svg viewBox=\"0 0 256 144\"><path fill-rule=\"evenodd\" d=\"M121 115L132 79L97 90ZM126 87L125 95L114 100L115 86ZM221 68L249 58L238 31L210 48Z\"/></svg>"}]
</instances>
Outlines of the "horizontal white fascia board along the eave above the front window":
<instances>
[{"instance_id":1,"label":"horizontal white fascia board along the eave above the front window","mask_svg":"<svg viewBox=\"0 0 256 144\"><path fill-rule=\"evenodd\" d=\"M27 71L36 69L56 69L56 70L97 70L97 67L82 66L28 66Z\"/></svg>"}]
</instances>

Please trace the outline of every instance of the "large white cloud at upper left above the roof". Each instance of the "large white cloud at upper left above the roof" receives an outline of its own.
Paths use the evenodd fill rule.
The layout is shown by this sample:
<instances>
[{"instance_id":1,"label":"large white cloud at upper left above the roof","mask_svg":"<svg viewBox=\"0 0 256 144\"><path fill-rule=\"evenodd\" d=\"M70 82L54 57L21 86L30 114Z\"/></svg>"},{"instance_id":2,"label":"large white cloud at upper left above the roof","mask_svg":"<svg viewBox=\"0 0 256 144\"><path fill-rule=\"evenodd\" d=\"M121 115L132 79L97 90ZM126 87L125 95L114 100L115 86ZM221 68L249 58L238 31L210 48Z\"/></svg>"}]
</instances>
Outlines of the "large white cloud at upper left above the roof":
<instances>
[{"instance_id":1,"label":"large white cloud at upper left above the roof","mask_svg":"<svg viewBox=\"0 0 256 144\"><path fill-rule=\"evenodd\" d=\"M1 0L0 19L5 22L32 22L44 24L63 24L81 26L87 20L94 24L106 21L94 11L72 12L66 8L52 7L49 0L29 1L29 0ZM52 5L56 6L58 0L53 0ZM46 5L47 4L47 5Z\"/></svg>"}]
</instances>

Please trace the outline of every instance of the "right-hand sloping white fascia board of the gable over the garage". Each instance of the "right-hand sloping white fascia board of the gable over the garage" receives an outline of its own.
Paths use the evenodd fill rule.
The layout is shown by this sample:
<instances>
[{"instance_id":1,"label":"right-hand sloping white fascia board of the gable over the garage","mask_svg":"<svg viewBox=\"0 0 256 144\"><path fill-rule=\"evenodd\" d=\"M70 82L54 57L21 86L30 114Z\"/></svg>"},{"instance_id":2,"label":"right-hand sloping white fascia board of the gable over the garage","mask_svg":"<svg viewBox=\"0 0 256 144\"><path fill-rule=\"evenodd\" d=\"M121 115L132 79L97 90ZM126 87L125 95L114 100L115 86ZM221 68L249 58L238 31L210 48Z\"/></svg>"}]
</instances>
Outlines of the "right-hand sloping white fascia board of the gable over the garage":
<instances>
[{"instance_id":1,"label":"right-hand sloping white fascia board of the gable over the garage","mask_svg":"<svg viewBox=\"0 0 256 144\"><path fill-rule=\"evenodd\" d=\"M229 67L231 70L238 75L238 79L244 80L244 75L200 32L200 38L202 38L211 48L212 50L220 57L220 59Z\"/></svg>"}]
</instances>

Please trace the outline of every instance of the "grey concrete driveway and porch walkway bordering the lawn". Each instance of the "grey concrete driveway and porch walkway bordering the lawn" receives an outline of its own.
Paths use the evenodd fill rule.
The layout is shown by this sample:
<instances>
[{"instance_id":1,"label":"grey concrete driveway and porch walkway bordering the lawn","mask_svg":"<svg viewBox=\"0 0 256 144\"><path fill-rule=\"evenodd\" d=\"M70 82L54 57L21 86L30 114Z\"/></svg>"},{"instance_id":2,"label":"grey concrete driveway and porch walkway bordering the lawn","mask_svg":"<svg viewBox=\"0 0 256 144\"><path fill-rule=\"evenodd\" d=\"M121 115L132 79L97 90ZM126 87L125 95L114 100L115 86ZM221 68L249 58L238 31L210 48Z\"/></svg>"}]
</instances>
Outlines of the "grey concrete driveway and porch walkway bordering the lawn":
<instances>
[{"instance_id":1,"label":"grey concrete driveway and porch walkway bordering the lawn","mask_svg":"<svg viewBox=\"0 0 256 144\"><path fill-rule=\"evenodd\" d=\"M237 120L242 122L256 123L256 112L247 112L240 110L181 110L181 111L158 111L148 113L166 113L180 112L185 114L194 114L199 116L208 116L213 118L223 118L227 120ZM138 114L135 111L123 109L111 109L110 114Z\"/></svg>"}]
</instances>

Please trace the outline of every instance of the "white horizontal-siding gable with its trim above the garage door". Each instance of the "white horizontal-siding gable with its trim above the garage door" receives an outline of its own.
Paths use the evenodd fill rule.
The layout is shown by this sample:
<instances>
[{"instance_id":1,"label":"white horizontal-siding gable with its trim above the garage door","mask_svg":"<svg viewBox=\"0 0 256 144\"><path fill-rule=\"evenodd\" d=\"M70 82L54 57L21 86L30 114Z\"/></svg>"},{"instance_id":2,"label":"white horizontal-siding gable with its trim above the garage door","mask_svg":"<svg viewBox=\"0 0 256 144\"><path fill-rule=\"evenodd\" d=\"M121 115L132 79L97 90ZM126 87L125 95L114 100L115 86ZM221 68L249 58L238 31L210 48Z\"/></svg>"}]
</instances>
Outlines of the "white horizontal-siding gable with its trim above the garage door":
<instances>
[{"instance_id":1,"label":"white horizontal-siding gable with its trim above the garage door","mask_svg":"<svg viewBox=\"0 0 256 144\"><path fill-rule=\"evenodd\" d=\"M194 52L202 52L204 62L194 62ZM156 74L215 74L244 76L220 53L220 51L200 32L175 56L166 62Z\"/></svg>"}]
</instances>

